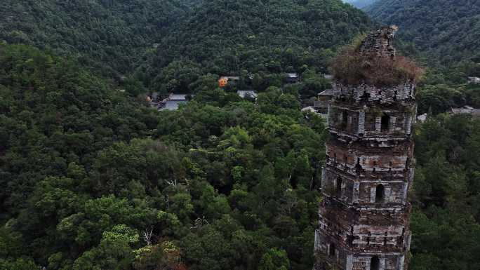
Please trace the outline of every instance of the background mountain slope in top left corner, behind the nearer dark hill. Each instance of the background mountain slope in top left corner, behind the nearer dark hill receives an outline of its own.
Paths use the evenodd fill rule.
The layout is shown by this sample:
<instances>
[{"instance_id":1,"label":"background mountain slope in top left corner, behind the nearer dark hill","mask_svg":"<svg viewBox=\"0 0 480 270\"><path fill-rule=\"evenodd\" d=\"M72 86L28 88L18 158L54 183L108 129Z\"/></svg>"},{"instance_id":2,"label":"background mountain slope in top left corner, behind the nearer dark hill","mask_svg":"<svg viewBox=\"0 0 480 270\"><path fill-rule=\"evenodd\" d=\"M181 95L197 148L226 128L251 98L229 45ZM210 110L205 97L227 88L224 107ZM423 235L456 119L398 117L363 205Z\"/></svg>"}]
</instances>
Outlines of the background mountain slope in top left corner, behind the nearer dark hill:
<instances>
[{"instance_id":1,"label":"background mountain slope in top left corner, behind the nearer dark hill","mask_svg":"<svg viewBox=\"0 0 480 270\"><path fill-rule=\"evenodd\" d=\"M52 48L119 76L193 0L2 0L0 41Z\"/></svg>"}]
</instances>

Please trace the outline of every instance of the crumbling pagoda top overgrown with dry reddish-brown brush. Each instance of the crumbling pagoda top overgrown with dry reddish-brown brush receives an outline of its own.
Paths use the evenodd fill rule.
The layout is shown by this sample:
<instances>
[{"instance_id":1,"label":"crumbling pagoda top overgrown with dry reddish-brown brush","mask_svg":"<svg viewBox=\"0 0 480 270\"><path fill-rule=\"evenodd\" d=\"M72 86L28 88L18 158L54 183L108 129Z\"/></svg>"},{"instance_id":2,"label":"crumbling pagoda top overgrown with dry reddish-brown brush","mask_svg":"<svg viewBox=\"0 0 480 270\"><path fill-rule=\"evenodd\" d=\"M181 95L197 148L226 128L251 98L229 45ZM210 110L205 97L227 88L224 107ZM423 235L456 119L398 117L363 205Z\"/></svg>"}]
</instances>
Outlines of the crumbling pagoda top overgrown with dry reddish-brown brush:
<instances>
[{"instance_id":1,"label":"crumbling pagoda top overgrown with dry reddish-brown brush","mask_svg":"<svg viewBox=\"0 0 480 270\"><path fill-rule=\"evenodd\" d=\"M423 69L412 60L396 55L392 46L397 29L382 27L345 46L331 63L334 78L350 85L366 83L378 87L418 81Z\"/></svg>"}]
</instances>

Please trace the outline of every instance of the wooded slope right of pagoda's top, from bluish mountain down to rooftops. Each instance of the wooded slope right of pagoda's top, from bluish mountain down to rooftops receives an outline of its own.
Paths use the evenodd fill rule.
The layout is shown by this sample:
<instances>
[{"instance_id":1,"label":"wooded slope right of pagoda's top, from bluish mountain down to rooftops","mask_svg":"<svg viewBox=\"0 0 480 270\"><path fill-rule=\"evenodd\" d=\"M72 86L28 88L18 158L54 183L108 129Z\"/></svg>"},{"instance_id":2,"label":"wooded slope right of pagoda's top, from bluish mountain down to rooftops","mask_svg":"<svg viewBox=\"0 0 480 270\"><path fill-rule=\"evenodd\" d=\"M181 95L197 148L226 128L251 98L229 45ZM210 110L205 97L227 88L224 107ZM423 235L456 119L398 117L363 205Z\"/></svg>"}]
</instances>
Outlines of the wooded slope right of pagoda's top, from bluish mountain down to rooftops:
<instances>
[{"instance_id":1,"label":"wooded slope right of pagoda's top, from bluish mountain down to rooftops","mask_svg":"<svg viewBox=\"0 0 480 270\"><path fill-rule=\"evenodd\" d=\"M439 114L466 104L480 107L480 4L477 1L382 0L366 11L387 25L399 25L401 53L429 67L418 88L419 112Z\"/></svg>"}]
</instances>

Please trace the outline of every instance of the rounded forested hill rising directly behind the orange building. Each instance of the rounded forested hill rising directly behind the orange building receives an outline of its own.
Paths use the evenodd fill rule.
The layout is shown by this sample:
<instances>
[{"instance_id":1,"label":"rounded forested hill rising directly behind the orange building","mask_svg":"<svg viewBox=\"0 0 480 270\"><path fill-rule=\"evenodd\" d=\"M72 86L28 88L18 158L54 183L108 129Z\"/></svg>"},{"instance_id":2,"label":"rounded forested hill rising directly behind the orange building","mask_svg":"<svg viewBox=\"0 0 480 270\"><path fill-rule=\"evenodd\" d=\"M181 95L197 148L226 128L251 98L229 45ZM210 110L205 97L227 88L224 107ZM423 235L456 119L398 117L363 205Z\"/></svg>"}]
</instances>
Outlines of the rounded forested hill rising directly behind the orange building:
<instances>
[{"instance_id":1,"label":"rounded forested hill rising directly behind the orange building","mask_svg":"<svg viewBox=\"0 0 480 270\"><path fill-rule=\"evenodd\" d=\"M204 1L171 27L146 69L164 81L161 69L177 60L215 74L325 68L325 49L370 25L366 14L340 0Z\"/></svg>"}]
</instances>

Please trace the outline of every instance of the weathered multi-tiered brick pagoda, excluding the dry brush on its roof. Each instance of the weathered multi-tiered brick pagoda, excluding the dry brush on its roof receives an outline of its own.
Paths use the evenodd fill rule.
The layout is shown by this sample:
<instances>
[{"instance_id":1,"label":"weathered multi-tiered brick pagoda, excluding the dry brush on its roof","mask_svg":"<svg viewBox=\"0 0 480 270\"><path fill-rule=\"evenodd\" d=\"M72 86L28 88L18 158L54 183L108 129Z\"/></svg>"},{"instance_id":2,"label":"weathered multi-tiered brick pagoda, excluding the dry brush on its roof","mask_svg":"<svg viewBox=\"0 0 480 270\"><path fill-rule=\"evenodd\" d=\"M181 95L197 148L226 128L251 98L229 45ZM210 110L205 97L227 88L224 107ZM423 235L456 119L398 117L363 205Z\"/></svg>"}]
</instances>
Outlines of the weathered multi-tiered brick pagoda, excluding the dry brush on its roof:
<instances>
[{"instance_id":1,"label":"weathered multi-tiered brick pagoda, excluding the dry brush on its roof","mask_svg":"<svg viewBox=\"0 0 480 270\"><path fill-rule=\"evenodd\" d=\"M394 61L395 32L369 34L358 53ZM333 83L315 269L407 269L414 90L411 81L381 88Z\"/></svg>"}]
</instances>

